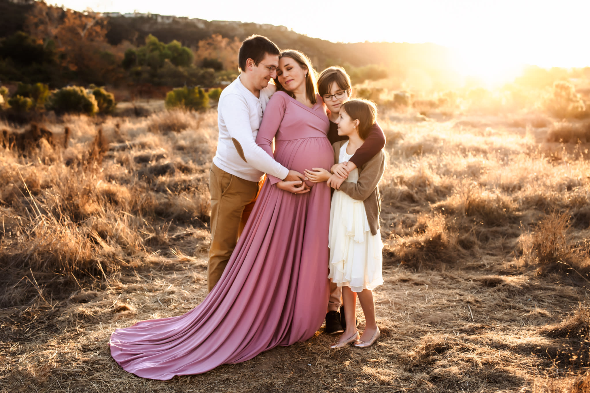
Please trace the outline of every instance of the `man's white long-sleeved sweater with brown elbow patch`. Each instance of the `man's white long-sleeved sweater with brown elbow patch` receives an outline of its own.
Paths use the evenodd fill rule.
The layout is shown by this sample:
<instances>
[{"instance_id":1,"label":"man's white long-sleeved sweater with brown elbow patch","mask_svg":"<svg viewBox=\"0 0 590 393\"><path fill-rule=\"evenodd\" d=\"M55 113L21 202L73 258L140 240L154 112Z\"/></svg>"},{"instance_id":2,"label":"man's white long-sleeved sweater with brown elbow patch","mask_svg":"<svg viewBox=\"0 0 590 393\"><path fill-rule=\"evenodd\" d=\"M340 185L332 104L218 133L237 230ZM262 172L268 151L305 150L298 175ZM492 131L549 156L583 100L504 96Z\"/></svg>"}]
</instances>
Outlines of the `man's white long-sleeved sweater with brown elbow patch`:
<instances>
[{"instance_id":1,"label":"man's white long-sleeved sweater with brown elbow patch","mask_svg":"<svg viewBox=\"0 0 590 393\"><path fill-rule=\"evenodd\" d=\"M278 179L287 177L289 169L256 144L263 111L275 90L276 87L269 84L257 98L238 77L221 92L217 105L219 140L213 157L219 169L250 181L259 181L264 173Z\"/></svg>"}]
</instances>

